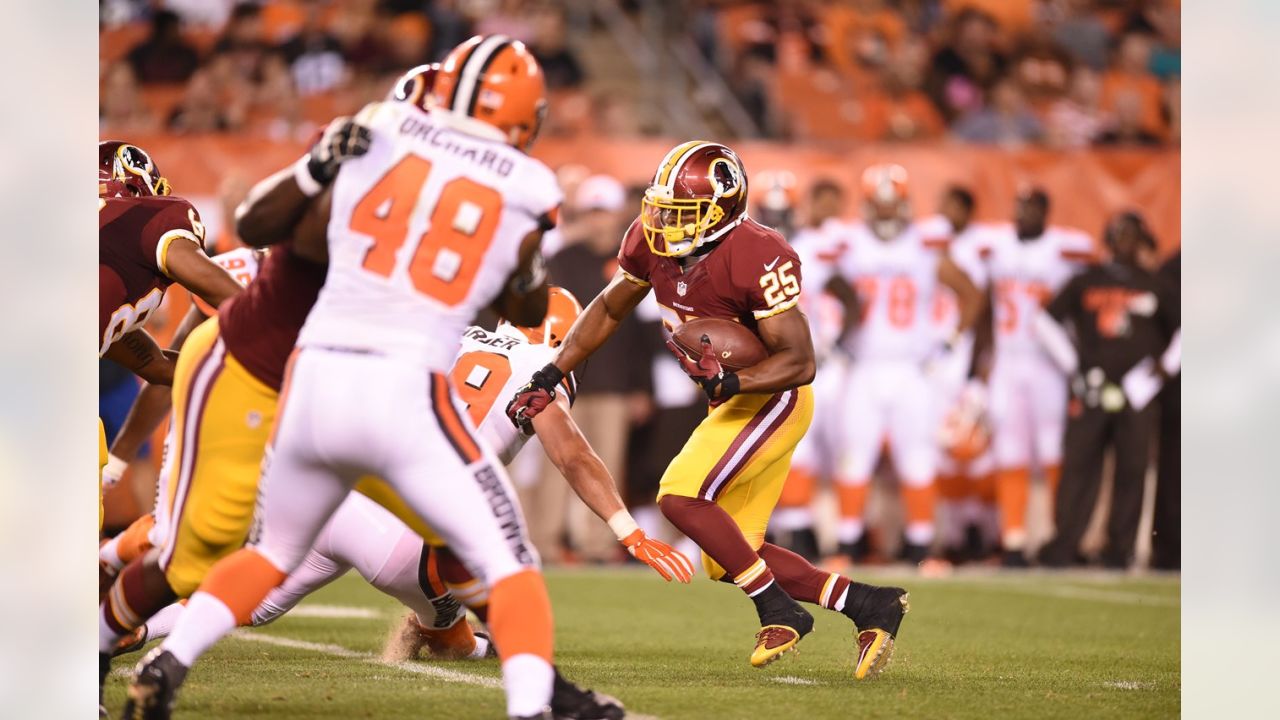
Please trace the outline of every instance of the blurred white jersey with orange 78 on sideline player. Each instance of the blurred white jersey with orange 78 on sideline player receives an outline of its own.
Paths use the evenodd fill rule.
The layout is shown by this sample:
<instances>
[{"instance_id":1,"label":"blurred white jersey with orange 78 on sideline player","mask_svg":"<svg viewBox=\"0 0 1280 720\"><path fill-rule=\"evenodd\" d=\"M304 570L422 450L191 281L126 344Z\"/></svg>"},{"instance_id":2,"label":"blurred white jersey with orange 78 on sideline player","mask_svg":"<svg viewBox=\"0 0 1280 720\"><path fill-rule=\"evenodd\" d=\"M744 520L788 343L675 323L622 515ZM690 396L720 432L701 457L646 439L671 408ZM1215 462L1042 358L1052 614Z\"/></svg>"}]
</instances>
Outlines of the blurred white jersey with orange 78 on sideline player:
<instances>
[{"instance_id":1,"label":"blurred white jersey with orange 78 on sideline player","mask_svg":"<svg viewBox=\"0 0 1280 720\"><path fill-rule=\"evenodd\" d=\"M831 238L844 246L837 268L861 306L846 341L854 361L923 363L937 346L932 314L941 250L915 223L890 241L864 223L844 225Z\"/></svg>"}]
</instances>

